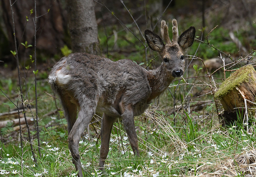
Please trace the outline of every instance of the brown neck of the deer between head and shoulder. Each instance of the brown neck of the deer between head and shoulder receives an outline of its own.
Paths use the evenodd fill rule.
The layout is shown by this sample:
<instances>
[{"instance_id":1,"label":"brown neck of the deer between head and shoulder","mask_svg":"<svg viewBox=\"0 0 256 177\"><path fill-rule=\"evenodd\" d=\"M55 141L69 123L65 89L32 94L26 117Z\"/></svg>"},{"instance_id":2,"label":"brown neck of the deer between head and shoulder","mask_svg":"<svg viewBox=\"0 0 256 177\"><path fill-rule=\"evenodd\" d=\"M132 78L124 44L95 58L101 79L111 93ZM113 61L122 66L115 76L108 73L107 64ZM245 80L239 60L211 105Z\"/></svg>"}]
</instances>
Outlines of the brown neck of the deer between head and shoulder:
<instances>
[{"instance_id":1,"label":"brown neck of the deer between head and shoulder","mask_svg":"<svg viewBox=\"0 0 256 177\"><path fill-rule=\"evenodd\" d=\"M151 88L151 95L148 98L148 101L150 101L166 90L172 82L173 77L170 77L166 68L161 65L155 70L147 71L147 80Z\"/></svg>"}]
</instances>

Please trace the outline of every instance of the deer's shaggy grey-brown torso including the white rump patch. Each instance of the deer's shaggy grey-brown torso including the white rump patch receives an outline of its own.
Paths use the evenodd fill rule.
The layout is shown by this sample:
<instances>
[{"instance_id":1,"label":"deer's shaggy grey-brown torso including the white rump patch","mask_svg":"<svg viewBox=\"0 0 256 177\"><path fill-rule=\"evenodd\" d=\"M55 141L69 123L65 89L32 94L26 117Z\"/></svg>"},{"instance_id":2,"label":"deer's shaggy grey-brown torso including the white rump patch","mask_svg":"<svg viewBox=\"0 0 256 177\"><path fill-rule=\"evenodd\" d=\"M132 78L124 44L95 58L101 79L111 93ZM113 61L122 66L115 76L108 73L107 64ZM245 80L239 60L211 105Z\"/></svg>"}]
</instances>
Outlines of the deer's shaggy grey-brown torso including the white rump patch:
<instances>
[{"instance_id":1,"label":"deer's shaggy grey-brown torso including the white rump patch","mask_svg":"<svg viewBox=\"0 0 256 177\"><path fill-rule=\"evenodd\" d=\"M68 97L78 107L86 98L97 102L96 113L121 118L126 105L131 105L134 116L138 116L150 104L147 99L151 88L146 72L130 59L111 61L96 55L74 53L63 57L52 68L49 83L60 98Z\"/></svg>"}]
</instances>

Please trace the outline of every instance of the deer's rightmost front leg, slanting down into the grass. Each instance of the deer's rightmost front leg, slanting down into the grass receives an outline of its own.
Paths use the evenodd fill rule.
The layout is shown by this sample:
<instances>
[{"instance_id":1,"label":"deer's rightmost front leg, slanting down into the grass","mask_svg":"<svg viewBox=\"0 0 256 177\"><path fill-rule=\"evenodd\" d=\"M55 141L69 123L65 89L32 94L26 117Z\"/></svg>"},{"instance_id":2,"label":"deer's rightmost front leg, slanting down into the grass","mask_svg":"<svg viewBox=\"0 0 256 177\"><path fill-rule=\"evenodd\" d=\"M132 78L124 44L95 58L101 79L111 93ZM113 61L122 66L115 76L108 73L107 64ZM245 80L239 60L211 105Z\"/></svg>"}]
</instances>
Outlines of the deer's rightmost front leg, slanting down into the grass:
<instances>
[{"instance_id":1,"label":"deer's rightmost front leg, slanting down into the grass","mask_svg":"<svg viewBox=\"0 0 256 177\"><path fill-rule=\"evenodd\" d=\"M129 138L133 153L135 156L140 157L138 139L137 139L137 134L134 126L133 111L126 109L122 114L122 117L123 117L122 122L125 128L125 131L127 133L127 136Z\"/></svg>"}]
</instances>

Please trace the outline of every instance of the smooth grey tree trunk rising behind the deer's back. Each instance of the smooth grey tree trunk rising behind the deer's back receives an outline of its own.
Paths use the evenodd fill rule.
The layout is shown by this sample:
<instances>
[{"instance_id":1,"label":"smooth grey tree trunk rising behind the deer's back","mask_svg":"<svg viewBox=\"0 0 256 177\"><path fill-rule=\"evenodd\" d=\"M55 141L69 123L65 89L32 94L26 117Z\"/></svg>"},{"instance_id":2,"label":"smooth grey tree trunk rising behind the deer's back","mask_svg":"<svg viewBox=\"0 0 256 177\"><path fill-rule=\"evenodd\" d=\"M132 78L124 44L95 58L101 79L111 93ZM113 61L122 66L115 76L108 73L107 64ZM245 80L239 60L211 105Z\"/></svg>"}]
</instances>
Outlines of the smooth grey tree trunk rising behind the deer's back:
<instances>
[{"instance_id":1,"label":"smooth grey tree trunk rising behind the deer's back","mask_svg":"<svg viewBox=\"0 0 256 177\"><path fill-rule=\"evenodd\" d=\"M93 0L67 0L67 10L73 52L100 55Z\"/></svg>"}]
</instances>

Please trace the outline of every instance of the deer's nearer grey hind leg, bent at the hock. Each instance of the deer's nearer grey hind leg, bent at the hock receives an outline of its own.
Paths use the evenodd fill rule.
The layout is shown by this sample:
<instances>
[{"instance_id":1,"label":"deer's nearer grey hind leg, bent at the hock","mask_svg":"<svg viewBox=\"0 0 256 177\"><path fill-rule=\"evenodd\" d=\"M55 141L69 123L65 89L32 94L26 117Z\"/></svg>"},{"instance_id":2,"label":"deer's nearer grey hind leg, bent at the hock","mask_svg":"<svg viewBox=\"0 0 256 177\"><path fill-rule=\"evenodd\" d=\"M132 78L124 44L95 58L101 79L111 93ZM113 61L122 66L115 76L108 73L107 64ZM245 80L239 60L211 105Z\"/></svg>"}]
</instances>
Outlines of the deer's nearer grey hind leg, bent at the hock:
<instances>
[{"instance_id":1,"label":"deer's nearer grey hind leg, bent at the hock","mask_svg":"<svg viewBox=\"0 0 256 177\"><path fill-rule=\"evenodd\" d=\"M80 111L78 113L78 118L74 123L69 135L68 144L72 155L73 163L78 171L78 177L82 177L82 166L80 161L80 155L78 150L79 140L84 129L87 128L93 115L95 114L95 109L97 102L95 100L85 99L83 103L80 103Z\"/></svg>"}]
</instances>

